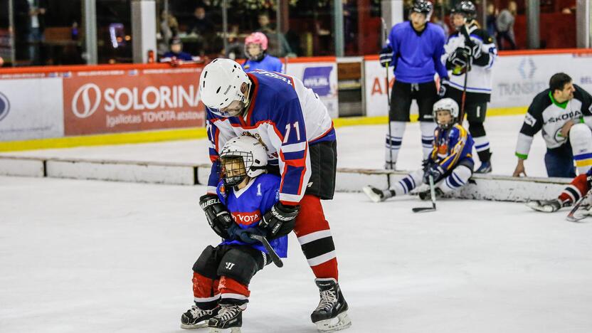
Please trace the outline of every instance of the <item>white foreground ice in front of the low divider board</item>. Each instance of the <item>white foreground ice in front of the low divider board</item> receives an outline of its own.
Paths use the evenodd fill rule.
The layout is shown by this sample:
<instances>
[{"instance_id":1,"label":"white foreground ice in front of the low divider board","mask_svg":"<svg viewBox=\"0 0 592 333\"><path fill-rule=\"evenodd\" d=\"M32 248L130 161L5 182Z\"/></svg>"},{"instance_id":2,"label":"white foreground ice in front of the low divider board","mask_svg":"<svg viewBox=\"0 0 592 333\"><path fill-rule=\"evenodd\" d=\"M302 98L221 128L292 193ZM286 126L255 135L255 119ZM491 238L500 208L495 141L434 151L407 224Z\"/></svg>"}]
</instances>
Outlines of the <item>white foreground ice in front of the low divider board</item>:
<instances>
[{"instance_id":1,"label":"white foreground ice in front of the low divider board","mask_svg":"<svg viewBox=\"0 0 592 333\"><path fill-rule=\"evenodd\" d=\"M0 332L186 332L191 266L216 243L203 191L0 177ZM425 204L324 201L344 332L592 331L592 223L487 201L411 213ZM293 236L285 267L250 289L243 332L315 332L318 292Z\"/></svg>"}]
</instances>

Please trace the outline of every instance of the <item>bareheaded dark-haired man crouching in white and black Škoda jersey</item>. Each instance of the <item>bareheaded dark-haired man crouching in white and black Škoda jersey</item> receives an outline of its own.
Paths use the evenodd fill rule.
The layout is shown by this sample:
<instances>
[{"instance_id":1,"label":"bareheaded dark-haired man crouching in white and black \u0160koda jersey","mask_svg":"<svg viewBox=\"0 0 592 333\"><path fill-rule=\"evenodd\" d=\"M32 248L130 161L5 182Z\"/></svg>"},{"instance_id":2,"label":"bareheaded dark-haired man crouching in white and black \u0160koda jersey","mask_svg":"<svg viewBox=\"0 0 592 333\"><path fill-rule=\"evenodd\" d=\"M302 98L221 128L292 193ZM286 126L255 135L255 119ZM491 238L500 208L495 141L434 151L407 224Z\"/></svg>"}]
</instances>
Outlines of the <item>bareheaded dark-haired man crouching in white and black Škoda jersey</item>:
<instances>
[{"instance_id":1,"label":"bareheaded dark-haired man crouching in white and black \u0160koda jersey","mask_svg":"<svg viewBox=\"0 0 592 333\"><path fill-rule=\"evenodd\" d=\"M573 178L592 166L592 96L572 83L569 75L556 73L549 89L536 95L518 134L514 176L526 175L524 160L534 134L543 130L545 166L549 177Z\"/></svg>"}]
</instances>

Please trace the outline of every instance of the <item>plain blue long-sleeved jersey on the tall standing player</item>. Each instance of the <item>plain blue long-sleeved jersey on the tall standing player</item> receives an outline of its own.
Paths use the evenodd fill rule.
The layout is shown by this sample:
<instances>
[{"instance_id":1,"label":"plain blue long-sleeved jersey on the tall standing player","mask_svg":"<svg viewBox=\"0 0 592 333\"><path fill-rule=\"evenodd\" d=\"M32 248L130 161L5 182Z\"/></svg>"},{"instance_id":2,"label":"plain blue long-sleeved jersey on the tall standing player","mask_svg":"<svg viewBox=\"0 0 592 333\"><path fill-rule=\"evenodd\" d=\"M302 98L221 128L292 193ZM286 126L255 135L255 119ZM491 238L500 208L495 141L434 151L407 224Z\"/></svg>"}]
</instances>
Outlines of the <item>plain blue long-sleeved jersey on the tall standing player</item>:
<instances>
[{"instance_id":1,"label":"plain blue long-sleeved jersey on the tall standing player","mask_svg":"<svg viewBox=\"0 0 592 333\"><path fill-rule=\"evenodd\" d=\"M391 29L388 43L393 48L395 78L403 83L426 83L434 80L437 72L440 78L448 78L448 71L440 61L444 54L445 36L440 26L426 23L423 31L413 29L411 21L398 23Z\"/></svg>"}]
</instances>

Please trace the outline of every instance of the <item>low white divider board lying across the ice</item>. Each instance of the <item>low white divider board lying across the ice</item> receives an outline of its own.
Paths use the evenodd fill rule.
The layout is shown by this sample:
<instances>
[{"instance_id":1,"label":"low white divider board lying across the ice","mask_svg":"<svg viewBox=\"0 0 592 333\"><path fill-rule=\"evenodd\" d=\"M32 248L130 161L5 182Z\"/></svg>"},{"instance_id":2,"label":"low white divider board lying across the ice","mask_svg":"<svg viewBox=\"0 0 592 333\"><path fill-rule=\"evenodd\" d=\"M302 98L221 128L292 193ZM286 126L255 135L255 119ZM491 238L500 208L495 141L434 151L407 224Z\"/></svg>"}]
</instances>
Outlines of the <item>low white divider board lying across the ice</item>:
<instances>
[{"instance_id":1,"label":"low white divider board lying across the ice","mask_svg":"<svg viewBox=\"0 0 592 333\"><path fill-rule=\"evenodd\" d=\"M5 176L197 185L207 184L210 171L211 165L208 164L0 157L0 175ZM405 171L340 168L337 171L336 191L359 192L365 185L386 189L405 175ZM474 175L470 184L453 196L493 201L553 199L569 181L570 179L561 178Z\"/></svg>"}]
</instances>

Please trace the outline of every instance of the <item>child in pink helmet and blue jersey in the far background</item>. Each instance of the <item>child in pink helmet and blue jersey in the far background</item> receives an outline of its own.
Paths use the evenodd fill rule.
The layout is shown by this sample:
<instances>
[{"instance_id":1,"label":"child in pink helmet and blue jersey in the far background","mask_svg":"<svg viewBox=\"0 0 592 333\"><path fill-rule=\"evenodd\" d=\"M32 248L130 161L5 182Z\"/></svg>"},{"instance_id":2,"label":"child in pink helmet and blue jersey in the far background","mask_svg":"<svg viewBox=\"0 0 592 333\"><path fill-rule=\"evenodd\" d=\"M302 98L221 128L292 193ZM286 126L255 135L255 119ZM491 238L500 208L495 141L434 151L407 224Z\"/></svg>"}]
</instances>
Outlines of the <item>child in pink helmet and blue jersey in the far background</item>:
<instances>
[{"instance_id":1,"label":"child in pink helmet and blue jersey in the far background","mask_svg":"<svg viewBox=\"0 0 592 333\"><path fill-rule=\"evenodd\" d=\"M247 60L243 63L243 70L249 73L253 70L269 70L282 73L282 62L280 59L268 55L268 38L264 33L251 33L245 38L245 56Z\"/></svg>"}]
</instances>

